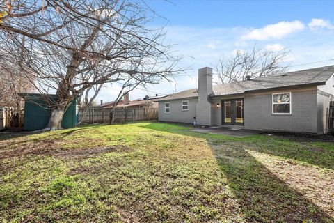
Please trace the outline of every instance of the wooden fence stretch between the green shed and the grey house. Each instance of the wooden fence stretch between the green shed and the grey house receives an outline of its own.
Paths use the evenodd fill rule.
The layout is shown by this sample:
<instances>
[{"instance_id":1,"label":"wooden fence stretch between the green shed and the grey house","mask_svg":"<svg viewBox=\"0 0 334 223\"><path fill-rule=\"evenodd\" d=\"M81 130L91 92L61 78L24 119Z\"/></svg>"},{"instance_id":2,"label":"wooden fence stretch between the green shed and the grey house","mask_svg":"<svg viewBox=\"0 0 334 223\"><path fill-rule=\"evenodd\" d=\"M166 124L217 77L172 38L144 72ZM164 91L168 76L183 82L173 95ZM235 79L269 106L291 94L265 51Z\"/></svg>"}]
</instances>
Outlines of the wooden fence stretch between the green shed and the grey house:
<instances>
[{"instance_id":1,"label":"wooden fence stretch between the green shed and the grey house","mask_svg":"<svg viewBox=\"0 0 334 223\"><path fill-rule=\"evenodd\" d=\"M90 108L88 111L79 109L78 120L79 123L109 123L111 108ZM157 108L116 108L115 121L143 121L143 120L157 120Z\"/></svg>"}]
</instances>

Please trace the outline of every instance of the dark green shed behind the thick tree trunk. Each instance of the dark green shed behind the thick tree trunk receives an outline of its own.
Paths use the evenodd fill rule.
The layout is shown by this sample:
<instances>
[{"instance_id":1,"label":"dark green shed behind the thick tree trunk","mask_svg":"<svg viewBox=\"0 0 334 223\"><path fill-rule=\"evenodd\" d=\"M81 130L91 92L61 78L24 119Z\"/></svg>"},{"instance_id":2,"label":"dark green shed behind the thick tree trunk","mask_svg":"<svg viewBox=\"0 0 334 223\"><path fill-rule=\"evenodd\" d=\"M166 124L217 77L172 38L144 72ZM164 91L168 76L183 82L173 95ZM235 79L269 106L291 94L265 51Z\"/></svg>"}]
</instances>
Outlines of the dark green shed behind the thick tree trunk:
<instances>
[{"instance_id":1,"label":"dark green shed behind the thick tree trunk","mask_svg":"<svg viewBox=\"0 0 334 223\"><path fill-rule=\"evenodd\" d=\"M39 93L20 93L24 98L24 130L40 130L45 128L51 116L47 100L56 100L56 95L41 95ZM48 97L48 98L45 98ZM67 107L61 126L74 128L76 123L76 99Z\"/></svg>"}]
</instances>

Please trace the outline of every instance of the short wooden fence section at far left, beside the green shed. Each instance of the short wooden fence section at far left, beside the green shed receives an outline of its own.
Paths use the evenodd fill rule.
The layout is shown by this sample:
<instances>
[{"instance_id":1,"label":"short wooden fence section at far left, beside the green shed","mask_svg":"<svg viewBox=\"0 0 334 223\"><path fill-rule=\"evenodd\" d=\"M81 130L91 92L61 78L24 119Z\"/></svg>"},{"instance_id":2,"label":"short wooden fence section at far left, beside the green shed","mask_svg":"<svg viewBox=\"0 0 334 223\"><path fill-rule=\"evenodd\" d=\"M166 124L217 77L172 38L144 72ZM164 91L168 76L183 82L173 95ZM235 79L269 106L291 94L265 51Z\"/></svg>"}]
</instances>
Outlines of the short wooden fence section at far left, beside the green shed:
<instances>
[{"instance_id":1,"label":"short wooden fence section at far left, beside the green shed","mask_svg":"<svg viewBox=\"0 0 334 223\"><path fill-rule=\"evenodd\" d=\"M22 128L24 124L24 109L0 107L0 130L6 128Z\"/></svg>"}]
</instances>

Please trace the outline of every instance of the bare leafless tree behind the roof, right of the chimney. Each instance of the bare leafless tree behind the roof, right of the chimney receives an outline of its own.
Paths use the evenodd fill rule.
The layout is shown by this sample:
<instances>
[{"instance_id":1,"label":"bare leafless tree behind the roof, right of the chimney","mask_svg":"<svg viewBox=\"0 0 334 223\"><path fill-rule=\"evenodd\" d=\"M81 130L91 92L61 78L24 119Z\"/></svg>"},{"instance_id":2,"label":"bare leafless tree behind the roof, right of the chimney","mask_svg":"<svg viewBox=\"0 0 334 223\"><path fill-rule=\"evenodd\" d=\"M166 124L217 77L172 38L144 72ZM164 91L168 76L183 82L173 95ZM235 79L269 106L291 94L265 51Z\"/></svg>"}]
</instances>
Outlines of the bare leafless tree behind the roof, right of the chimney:
<instances>
[{"instance_id":1,"label":"bare leafless tree behind the roof, right of the chimney","mask_svg":"<svg viewBox=\"0 0 334 223\"><path fill-rule=\"evenodd\" d=\"M266 77L286 72L289 65L283 62L289 51L281 49L278 52L257 49L254 46L246 52L238 49L230 59L219 59L214 71L218 75L218 84L237 82L250 77Z\"/></svg>"}]
</instances>

